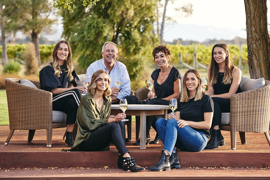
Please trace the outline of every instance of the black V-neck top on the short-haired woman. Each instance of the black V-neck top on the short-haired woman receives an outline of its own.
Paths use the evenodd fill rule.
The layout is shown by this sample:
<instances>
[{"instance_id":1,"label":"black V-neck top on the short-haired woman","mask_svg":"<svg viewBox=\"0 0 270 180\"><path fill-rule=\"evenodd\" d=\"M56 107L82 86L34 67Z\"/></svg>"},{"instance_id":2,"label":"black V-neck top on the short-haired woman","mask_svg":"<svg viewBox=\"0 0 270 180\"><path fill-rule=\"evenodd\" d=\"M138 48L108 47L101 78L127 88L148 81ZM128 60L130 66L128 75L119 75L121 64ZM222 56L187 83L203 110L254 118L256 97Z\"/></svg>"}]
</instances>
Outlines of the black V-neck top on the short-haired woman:
<instances>
[{"instance_id":1,"label":"black V-neck top on the short-haired woman","mask_svg":"<svg viewBox=\"0 0 270 180\"><path fill-rule=\"evenodd\" d=\"M151 74L151 78L154 80L154 89L156 91L156 96L158 99L166 98L171 96L173 91L173 82L177 79L181 79L180 72L175 67L172 67L167 79L162 83L158 84L157 79L160 69L156 69Z\"/></svg>"}]
</instances>

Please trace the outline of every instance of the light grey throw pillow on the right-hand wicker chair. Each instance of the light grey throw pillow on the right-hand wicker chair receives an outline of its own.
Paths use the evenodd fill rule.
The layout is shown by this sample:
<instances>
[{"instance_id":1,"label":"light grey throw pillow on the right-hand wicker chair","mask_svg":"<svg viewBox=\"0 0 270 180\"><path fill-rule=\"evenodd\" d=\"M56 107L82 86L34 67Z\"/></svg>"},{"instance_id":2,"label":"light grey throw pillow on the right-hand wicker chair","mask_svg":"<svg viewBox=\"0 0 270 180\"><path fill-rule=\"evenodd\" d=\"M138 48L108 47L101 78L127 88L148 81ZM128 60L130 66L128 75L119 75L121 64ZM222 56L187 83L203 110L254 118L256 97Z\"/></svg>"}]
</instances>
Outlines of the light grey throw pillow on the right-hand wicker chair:
<instances>
[{"instance_id":1,"label":"light grey throw pillow on the right-hand wicker chair","mask_svg":"<svg viewBox=\"0 0 270 180\"><path fill-rule=\"evenodd\" d=\"M242 92L257 89L263 86L265 86L265 80L263 77L260 79L250 79L242 76L241 78L240 88Z\"/></svg>"}]
</instances>

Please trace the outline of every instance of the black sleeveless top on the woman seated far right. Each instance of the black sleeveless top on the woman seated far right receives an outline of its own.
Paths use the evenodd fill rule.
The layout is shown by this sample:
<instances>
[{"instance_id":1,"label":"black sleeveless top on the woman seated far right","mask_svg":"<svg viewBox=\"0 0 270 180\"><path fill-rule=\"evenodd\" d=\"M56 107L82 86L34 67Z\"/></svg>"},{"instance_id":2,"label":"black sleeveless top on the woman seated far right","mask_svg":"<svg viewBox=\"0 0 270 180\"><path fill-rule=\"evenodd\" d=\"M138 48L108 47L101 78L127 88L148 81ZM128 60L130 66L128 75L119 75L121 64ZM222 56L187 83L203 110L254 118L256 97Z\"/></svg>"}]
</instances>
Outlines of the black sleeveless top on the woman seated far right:
<instances>
[{"instance_id":1,"label":"black sleeveless top on the woman seated far right","mask_svg":"<svg viewBox=\"0 0 270 180\"><path fill-rule=\"evenodd\" d=\"M219 72L218 77L217 77L217 82L215 84L213 84L213 88L214 88L214 94L224 94L224 93L228 93L230 91L230 87L232 85L231 84L223 84L223 77L224 77L224 73L223 72ZM238 86L238 89L236 91L236 93L241 92L240 86Z\"/></svg>"}]
</instances>

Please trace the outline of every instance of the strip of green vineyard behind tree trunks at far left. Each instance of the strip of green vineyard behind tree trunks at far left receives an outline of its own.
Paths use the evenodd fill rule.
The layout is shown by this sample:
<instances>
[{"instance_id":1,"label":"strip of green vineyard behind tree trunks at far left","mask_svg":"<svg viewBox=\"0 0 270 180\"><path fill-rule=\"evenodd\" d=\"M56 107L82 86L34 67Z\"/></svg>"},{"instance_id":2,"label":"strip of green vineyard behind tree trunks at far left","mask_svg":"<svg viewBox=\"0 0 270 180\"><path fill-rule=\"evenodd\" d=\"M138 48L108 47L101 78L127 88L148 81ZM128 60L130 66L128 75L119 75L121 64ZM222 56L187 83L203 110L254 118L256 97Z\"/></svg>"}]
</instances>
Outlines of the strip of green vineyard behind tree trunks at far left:
<instances>
[{"instance_id":1,"label":"strip of green vineyard behind tree trunks at far left","mask_svg":"<svg viewBox=\"0 0 270 180\"><path fill-rule=\"evenodd\" d=\"M55 45L39 45L41 62L46 63L51 60L53 48ZM25 52L26 44L7 44L7 55L9 59L19 59L25 61L23 52ZM33 49L34 51L34 49ZM0 56L2 56L2 46L0 45Z\"/></svg>"}]
</instances>

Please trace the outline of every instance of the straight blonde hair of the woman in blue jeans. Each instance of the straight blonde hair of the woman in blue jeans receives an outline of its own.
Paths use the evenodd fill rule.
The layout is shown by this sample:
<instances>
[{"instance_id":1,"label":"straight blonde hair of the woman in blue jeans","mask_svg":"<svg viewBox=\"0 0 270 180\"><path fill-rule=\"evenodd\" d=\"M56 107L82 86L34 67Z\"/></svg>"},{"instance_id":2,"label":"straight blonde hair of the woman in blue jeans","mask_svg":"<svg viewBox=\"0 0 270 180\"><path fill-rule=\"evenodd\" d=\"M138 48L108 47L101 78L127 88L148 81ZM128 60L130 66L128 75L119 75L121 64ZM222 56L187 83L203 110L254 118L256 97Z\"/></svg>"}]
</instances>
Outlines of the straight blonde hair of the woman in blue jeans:
<instances>
[{"instance_id":1,"label":"straight blonde hair of the woman in blue jeans","mask_svg":"<svg viewBox=\"0 0 270 180\"><path fill-rule=\"evenodd\" d=\"M189 101L189 99L188 99L189 91L188 91L187 85L185 83L185 80L186 80L189 72L194 73L198 79L198 86L196 88L196 96L195 96L194 101L198 101L198 100L202 99L202 97L203 97L202 78L201 78L199 72L196 69L188 69L187 72L185 72L185 75L183 78L182 97L180 99L180 102L182 102L182 103Z\"/></svg>"}]
</instances>

